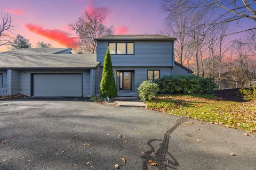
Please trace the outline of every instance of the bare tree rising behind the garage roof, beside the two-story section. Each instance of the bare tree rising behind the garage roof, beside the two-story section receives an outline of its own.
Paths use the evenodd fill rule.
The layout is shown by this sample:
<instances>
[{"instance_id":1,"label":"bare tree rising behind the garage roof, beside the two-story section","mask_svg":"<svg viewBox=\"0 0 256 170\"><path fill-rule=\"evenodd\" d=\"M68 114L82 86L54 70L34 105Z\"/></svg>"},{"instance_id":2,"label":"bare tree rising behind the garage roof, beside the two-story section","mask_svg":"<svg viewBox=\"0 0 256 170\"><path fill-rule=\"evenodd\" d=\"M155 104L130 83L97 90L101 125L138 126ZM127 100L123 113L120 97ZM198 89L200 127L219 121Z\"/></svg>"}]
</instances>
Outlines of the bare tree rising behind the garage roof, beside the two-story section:
<instances>
[{"instance_id":1,"label":"bare tree rising behind the garage roof, beside the two-story section","mask_svg":"<svg viewBox=\"0 0 256 170\"><path fill-rule=\"evenodd\" d=\"M69 24L70 29L76 31L79 38L78 50L80 52L95 54L97 44L94 39L114 34L113 26L107 27L105 21L105 14L97 11L89 14L86 11L77 21Z\"/></svg>"}]
</instances>

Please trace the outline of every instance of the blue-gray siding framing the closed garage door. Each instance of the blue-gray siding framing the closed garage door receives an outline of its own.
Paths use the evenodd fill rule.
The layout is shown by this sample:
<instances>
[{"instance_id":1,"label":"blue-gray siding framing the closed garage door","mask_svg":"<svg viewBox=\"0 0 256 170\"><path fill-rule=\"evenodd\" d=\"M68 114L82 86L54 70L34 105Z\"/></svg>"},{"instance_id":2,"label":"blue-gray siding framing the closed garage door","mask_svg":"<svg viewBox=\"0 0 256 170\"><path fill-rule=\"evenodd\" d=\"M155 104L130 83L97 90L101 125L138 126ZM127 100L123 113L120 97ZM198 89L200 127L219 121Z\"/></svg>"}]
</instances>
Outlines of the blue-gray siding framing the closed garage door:
<instances>
[{"instance_id":1,"label":"blue-gray siding framing the closed garage door","mask_svg":"<svg viewBox=\"0 0 256 170\"><path fill-rule=\"evenodd\" d=\"M31 74L32 73L83 73L83 95L90 96L90 71L21 71L20 93L30 96Z\"/></svg>"}]
</instances>

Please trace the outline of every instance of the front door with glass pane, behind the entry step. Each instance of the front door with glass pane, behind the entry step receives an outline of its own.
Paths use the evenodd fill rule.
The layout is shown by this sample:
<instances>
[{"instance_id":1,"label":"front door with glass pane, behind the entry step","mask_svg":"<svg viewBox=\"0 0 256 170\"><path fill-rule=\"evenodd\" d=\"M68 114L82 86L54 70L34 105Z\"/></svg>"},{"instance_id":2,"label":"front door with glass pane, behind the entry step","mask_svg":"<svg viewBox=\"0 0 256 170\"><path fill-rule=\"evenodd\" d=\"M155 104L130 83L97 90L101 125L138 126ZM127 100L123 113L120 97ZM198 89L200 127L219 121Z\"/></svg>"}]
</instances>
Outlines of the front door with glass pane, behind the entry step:
<instances>
[{"instance_id":1,"label":"front door with glass pane, behind the entry step","mask_svg":"<svg viewBox=\"0 0 256 170\"><path fill-rule=\"evenodd\" d=\"M120 90L132 90L132 72L120 72Z\"/></svg>"}]
</instances>

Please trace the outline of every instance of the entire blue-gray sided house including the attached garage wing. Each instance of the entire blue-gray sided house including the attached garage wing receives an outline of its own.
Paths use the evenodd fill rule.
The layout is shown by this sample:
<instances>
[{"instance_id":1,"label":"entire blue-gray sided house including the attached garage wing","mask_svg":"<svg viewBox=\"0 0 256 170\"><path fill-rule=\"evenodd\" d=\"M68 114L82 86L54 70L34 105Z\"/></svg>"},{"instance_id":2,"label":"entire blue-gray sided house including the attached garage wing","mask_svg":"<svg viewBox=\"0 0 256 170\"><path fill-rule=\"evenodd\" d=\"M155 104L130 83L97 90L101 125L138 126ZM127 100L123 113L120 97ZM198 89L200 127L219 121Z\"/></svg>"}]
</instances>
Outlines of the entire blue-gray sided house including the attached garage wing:
<instances>
[{"instance_id":1,"label":"entire blue-gray sided house including the attached garage wing","mask_svg":"<svg viewBox=\"0 0 256 170\"><path fill-rule=\"evenodd\" d=\"M97 54L70 54L71 48L30 48L0 53L0 96L98 95L109 46L118 96L137 96L145 80L191 74L174 61L175 38L161 35L105 36Z\"/></svg>"}]
</instances>

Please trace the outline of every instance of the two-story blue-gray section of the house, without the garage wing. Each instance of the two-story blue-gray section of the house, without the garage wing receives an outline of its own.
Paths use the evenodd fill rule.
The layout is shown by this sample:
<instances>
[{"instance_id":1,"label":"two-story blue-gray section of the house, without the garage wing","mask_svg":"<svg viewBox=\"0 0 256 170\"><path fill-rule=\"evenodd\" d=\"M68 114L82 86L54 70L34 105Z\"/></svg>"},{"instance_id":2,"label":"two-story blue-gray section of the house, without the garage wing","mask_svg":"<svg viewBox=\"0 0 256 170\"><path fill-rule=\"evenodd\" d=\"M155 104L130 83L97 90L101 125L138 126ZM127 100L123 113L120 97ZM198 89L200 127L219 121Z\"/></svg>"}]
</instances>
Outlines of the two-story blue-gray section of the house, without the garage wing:
<instances>
[{"instance_id":1,"label":"two-story blue-gray section of the house, without the garage wing","mask_svg":"<svg viewBox=\"0 0 256 170\"><path fill-rule=\"evenodd\" d=\"M97 61L100 62L95 84L99 87L103 61L106 49L109 47L118 96L136 96L140 83L145 80L159 80L164 75L192 72L174 61L176 39L172 37L111 35L95 40L97 41Z\"/></svg>"}]
</instances>

